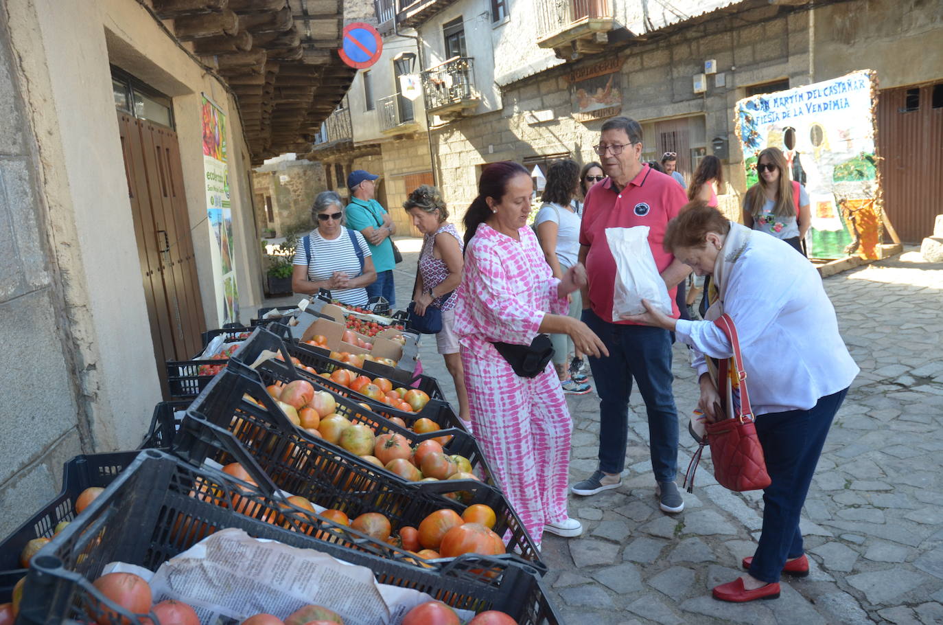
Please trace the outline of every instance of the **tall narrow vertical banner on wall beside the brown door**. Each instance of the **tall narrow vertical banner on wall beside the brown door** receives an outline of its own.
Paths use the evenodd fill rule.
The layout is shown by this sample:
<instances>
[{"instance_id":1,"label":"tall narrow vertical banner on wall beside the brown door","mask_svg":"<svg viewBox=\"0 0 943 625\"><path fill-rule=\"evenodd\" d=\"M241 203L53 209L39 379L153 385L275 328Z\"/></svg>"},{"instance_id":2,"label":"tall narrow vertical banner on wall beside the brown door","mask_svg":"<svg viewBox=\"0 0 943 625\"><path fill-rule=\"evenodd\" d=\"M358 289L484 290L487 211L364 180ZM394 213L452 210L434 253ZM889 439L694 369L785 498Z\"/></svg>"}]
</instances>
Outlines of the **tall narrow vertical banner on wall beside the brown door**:
<instances>
[{"instance_id":1,"label":"tall narrow vertical banner on wall beside the brown door","mask_svg":"<svg viewBox=\"0 0 943 625\"><path fill-rule=\"evenodd\" d=\"M239 290L233 248L233 220L229 205L229 166L226 164L226 116L203 96L203 170L207 191L209 245L216 287L219 328L239 322Z\"/></svg>"}]
</instances>

